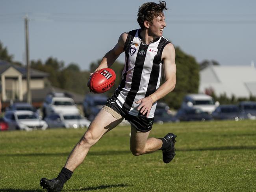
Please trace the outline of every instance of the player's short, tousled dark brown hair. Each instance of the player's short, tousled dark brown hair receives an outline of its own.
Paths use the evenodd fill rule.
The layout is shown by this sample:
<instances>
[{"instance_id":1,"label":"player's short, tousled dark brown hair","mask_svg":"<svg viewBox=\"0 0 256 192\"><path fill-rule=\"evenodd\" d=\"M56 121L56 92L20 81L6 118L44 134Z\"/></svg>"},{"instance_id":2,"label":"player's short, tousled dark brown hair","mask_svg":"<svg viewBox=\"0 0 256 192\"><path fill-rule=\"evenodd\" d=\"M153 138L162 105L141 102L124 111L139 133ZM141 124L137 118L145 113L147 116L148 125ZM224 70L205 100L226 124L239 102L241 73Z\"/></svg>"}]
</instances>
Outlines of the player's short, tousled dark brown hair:
<instances>
[{"instance_id":1,"label":"player's short, tousled dark brown hair","mask_svg":"<svg viewBox=\"0 0 256 192\"><path fill-rule=\"evenodd\" d=\"M155 17L163 14L163 10L167 10L165 1L159 1L159 4L155 2L142 4L138 10L137 22L139 23L139 26L144 29L144 21L147 20L152 23Z\"/></svg>"}]
</instances>

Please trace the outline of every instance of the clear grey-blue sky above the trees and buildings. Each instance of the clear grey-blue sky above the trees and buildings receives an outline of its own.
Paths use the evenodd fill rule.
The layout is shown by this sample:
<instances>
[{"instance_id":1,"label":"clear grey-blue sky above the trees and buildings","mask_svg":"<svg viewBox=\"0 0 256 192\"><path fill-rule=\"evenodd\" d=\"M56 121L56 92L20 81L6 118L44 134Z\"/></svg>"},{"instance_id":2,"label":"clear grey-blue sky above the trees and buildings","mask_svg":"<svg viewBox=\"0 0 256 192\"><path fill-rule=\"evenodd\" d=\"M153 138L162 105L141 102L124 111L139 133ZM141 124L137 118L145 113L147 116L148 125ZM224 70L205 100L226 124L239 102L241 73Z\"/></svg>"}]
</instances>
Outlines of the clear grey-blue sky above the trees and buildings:
<instances>
[{"instance_id":1,"label":"clear grey-blue sky above the trees and buildings","mask_svg":"<svg viewBox=\"0 0 256 192\"><path fill-rule=\"evenodd\" d=\"M30 60L48 57L88 70L121 33L139 28L144 0L0 0L0 41L25 63L24 17ZM154 1L158 2L158 1ZM197 62L250 66L256 62L255 0L166 0L163 36ZM124 63L124 54L117 59Z\"/></svg>"}]
</instances>

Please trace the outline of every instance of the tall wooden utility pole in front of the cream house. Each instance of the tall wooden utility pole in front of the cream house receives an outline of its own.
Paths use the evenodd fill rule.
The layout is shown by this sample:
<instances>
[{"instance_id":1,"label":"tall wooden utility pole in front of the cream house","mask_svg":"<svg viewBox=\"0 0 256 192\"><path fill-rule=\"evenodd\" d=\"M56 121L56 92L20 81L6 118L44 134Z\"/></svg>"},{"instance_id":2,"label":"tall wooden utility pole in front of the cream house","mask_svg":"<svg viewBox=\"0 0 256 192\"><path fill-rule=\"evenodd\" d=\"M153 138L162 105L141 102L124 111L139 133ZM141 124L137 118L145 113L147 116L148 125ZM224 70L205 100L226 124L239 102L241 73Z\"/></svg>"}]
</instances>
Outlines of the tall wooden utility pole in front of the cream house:
<instances>
[{"instance_id":1,"label":"tall wooden utility pole in front of the cream house","mask_svg":"<svg viewBox=\"0 0 256 192\"><path fill-rule=\"evenodd\" d=\"M30 90L30 61L29 61L29 48L28 48L28 15L25 16L25 34L26 34L26 65L27 65L27 102L31 101L31 90Z\"/></svg>"}]
</instances>

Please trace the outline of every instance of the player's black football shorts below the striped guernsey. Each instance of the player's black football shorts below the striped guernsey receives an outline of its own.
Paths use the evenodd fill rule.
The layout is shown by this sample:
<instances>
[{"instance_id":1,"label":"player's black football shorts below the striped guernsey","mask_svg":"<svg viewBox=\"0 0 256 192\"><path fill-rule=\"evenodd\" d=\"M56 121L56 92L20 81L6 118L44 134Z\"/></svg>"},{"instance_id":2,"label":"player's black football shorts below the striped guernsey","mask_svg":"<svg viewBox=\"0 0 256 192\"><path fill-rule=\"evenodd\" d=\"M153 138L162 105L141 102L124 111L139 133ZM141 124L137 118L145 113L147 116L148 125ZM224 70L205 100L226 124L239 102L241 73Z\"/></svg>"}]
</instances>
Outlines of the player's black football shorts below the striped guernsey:
<instances>
[{"instance_id":1,"label":"player's black football shorts below the striped guernsey","mask_svg":"<svg viewBox=\"0 0 256 192\"><path fill-rule=\"evenodd\" d=\"M139 132L148 132L152 129L154 118L147 118L146 116L138 115L133 116L130 115L127 111L119 107L117 103L115 102L115 97L111 97L108 99L106 106L110 107L117 113L119 113L122 117L124 117L132 126L135 127L135 129Z\"/></svg>"}]
</instances>

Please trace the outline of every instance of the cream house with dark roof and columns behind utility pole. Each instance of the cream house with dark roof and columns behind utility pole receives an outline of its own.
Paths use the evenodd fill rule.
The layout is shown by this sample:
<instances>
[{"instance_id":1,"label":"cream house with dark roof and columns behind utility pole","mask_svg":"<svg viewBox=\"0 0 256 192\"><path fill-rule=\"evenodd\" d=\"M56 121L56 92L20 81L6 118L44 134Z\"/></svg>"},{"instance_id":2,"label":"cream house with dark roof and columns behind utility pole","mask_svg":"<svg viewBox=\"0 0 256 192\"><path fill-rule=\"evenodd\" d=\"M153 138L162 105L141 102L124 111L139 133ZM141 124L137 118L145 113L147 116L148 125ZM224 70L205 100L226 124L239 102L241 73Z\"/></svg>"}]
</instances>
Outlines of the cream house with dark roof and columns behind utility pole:
<instances>
[{"instance_id":1,"label":"cream house with dark roof and columns behind utility pole","mask_svg":"<svg viewBox=\"0 0 256 192\"><path fill-rule=\"evenodd\" d=\"M32 104L34 107L41 107L46 95L50 92L65 93L72 97L76 104L83 102L84 95L47 85L48 73L31 68L30 76ZM0 60L0 100L2 107L9 106L11 100L13 102L26 102L26 94L26 67L12 65Z\"/></svg>"}]
</instances>

